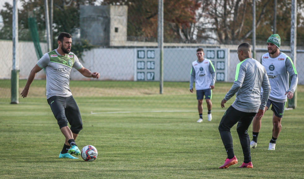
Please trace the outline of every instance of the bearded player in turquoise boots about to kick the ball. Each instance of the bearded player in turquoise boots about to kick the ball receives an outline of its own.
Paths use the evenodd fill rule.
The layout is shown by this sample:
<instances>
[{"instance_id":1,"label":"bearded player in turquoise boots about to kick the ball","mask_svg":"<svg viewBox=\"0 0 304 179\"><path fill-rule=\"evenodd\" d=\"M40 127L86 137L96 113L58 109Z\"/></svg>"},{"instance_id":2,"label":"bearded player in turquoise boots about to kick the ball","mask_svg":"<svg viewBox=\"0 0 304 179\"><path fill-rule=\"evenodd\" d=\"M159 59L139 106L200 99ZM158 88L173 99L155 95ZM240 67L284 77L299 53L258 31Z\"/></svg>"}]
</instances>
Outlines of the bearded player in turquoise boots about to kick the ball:
<instances>
[{"instance_id":1,"label":"bearded player in turquoise boots about to kick the ball","mask_svg":"<svg viewBox=\"0 0 304 179\"><path fill-rule=\"evenodd\" d=\"M46 98L57 119L60 131L65 136L65 143L59 158L78 159L71 154L80 155L75 139L80 130L82 130L82 120L69 86L71 70L73 67L83 76L93 78L99 78L99 73L91 73L90 70L83 67L77 56L70 52L71 45L72 35L66 32L60 33L58 36L58 48L46 53L37 62L28 76L28 81L21 92L21 96L23 98L27 97L29 87L36 73L45 68ZM67 123L71 125L71 128L68 127Z\"/></svg>"}]
</instances>

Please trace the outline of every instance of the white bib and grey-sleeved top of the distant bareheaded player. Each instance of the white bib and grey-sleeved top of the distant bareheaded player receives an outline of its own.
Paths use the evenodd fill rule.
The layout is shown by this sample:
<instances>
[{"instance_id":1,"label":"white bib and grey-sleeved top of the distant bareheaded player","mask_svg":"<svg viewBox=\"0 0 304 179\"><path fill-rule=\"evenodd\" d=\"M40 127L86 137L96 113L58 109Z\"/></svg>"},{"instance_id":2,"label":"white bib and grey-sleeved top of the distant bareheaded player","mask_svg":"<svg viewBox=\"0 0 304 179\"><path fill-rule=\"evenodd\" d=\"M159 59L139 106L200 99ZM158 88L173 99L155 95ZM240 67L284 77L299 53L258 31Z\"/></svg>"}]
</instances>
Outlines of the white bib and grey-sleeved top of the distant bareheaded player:
<instances>
[{"instance_id":1,"label":"white bib and grey-sleeved top of the distant bareheaded player","mask_svg":"<svg viewBox=\"0 0 304 179\"><path fill-rule=\"evenodd\" d=\"M204 59L202 62L195 60L192 62L190 77L190 90L193 89L195 79L196 90L210 89L210 85L215 83L215 69L209 59Z\"/></svg>"}]
</instances>

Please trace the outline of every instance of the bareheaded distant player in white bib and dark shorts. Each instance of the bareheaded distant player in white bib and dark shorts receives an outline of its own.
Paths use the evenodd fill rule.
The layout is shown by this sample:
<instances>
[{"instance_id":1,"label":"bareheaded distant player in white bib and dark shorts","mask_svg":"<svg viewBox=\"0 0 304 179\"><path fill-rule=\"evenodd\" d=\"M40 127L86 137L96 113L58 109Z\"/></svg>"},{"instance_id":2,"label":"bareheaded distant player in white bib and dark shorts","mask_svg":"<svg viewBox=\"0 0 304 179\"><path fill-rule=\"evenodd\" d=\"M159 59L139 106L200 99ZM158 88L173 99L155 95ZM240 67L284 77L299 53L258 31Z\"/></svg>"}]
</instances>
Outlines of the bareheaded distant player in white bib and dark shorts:
<instances>
[{"instance_id":1,"label":"bareheaded distant player in white bib and dark shorts","mask_svg":"<svg viewBox=\"0 0 304 179\"><path fill-rule=\"evenodd\" d=\"M192 62L192 69L190 73L190 92L193 93L193 82L195 81L196 98L198 100L198 123L203 122L203 99L205 96L207 108L208 108L208 121L212 120L211 108L212 108L212 89L214 89L215 83L215 69L209 59L204 59L204 50L198 48L196 50L196 56L198 60Z\"/></svg>"}]
</instances>

